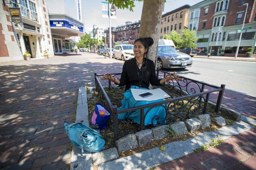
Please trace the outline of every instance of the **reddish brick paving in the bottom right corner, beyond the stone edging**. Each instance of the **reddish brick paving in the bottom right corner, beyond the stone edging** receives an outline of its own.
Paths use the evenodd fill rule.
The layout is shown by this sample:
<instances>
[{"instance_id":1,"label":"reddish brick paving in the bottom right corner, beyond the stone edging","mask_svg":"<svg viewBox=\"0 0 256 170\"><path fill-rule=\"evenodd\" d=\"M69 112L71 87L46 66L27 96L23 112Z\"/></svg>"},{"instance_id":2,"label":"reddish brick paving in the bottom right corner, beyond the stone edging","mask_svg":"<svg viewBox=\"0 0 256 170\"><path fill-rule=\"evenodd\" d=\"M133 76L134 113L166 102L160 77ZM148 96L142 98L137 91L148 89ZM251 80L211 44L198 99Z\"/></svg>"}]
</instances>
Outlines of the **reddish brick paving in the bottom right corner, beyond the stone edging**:
<instances>
[{"instance_id":1,"label":"reddish brick paving in the bottom right corner, beyond the stone edging","mask_svg":"<svg viewBox=\"0 0 256 170\"><path fill-rule=\"evenodd\" d=\"M167 169L256 169L256 128L223 141L219 148L193 153L156 167Z\"/></svg>"}]
</instances>

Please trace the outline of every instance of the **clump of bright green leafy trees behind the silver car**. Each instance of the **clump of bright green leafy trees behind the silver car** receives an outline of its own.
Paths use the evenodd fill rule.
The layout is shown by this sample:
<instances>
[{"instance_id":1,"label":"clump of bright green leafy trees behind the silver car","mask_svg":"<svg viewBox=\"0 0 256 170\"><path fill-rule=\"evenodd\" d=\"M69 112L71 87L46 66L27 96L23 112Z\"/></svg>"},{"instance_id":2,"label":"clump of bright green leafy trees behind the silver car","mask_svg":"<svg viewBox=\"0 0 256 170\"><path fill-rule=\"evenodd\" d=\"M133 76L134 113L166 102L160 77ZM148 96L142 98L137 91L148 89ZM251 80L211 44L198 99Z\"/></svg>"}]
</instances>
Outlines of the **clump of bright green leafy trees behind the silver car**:
<instances>
[{"instance_id":1,"label":"clump of bright green leafy trees behind the silver car","mask_svg":"<svg viewBox=\"0 0 256 170\"><path fill-rule=\"evenodd\" d=\"M164 39L173 40L176 48L196 48L195 41L198 40L195 31L182 30L182 34L172 31L171 34L164 34Z\"/></svg>"}]
</instances>

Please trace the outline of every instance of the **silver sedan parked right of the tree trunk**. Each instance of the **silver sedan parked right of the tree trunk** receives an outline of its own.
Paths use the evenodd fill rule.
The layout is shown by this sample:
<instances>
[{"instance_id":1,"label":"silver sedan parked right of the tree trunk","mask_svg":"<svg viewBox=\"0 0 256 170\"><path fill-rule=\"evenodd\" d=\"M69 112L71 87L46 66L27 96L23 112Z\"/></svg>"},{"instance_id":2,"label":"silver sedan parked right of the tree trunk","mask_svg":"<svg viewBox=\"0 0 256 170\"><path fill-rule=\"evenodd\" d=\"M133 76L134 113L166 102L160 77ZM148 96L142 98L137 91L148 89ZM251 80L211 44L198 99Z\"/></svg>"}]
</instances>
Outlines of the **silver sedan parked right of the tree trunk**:
<instances>
[{"instance_id":1,"label":"silver sedan parked right of the tree trunk","mask_svg":"<svg viewBox=\"0 0 256 170\"><path fill-rule=\"evenodd\" d=\"M191 56L178 52L168 45L158 45L157 67L163 68L186 68L192 66Z\"/></svg>"}]
</instances>

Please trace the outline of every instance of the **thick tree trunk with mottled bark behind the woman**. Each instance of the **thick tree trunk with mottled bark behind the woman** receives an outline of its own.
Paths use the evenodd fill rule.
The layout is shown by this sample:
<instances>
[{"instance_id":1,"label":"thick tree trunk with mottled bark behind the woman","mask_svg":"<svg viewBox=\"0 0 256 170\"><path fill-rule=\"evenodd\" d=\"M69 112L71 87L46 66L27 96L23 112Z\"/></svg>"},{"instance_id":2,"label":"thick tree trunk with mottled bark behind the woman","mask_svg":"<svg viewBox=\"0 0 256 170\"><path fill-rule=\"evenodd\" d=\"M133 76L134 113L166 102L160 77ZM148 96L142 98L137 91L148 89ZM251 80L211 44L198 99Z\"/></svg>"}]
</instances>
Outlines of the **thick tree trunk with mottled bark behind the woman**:
<instances>
[{"instance_id":1,"label":"thick tree trunk with mottled bark behind the woman","mask_svg":"<svg viewBox=\"0 0 256 170\"><path fill-rule=\"evenodd\" d=\"M144 0L141 14L140 36L151 37L154 40L146 58L151 59L155 65L163 7L164 0Z\"/></svg>"}]
</instances>

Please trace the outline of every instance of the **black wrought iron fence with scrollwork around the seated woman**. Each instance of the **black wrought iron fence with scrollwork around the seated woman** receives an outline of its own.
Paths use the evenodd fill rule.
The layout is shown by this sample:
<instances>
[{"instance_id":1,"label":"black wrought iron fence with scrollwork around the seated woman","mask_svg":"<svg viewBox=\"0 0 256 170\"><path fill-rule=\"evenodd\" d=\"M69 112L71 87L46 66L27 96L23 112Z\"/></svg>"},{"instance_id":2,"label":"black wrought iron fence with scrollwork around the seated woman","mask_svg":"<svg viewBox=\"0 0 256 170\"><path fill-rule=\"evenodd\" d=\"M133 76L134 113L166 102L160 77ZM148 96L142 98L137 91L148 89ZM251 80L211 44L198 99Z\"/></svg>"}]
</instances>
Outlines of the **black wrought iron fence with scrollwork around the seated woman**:
<instances>
[{"instance_id":1,"label":"black wrought iron fence with scrollwork around the seated woman","mask_svg":"<svg viewBox=\"0 0 256 170\"><path fill-rule=\"evenodd\" d=\"M120 75L121 73L112 74L112 76L116 78L120 77ZM166 75L169 75L169 73L166 71L157 69L156 75L158 78L159 76L166 77ZM181 76L180 78L182 78L182 80L170 80L168 83L165 83L163 86L164 88L173 90L174 92L178 93L180 95L179 97L160 101L160 102L155 102L151 104L145 104L137 107L118 110L117 106L111 103L108 95L106 94L98 78L99 76L102 76L102 75L97 75L96 73L94 73L96 91L98 92L98 95L102 104L112 112L113 125L111 125L111 121L109 122L109 124L113 126L115 140L119 139L118 114L140 110L140 113L141 113L140 129L143 130L143 129L146 129L146 127L144 126L145 117L150 112L150 110L153 109L154 107L164 107L165 109L166 116L164 120L154 125L154 126L160 126L165 124L166 120L170 120L168 122L172 123L172 122L175 122L178 117L184 117L187 119L190 117L190 114L205 114L207 111L209 96L210 94L215 92L218 92L218 99L215 106L215 112L218 113L220 110L220 104L221 104L224 89L225 89L225 84L221 84L221 86L218 87L212 84L208 84L205 82L201 82L201 81L197 81L197 80L193 80L193 79L189 79ZM110 80L108 82L108 86L109 88L117 88L115 84L111 84ZM165 104L167 104L167 107L165 107ZM144 114L145 108L149 108L149 109ZM174 108L176 109L174 110ZM159 119L158 116L154 116L151 121L152 125L153 125L153 121L158 119Z\"/></svg>"}]
</instances>

